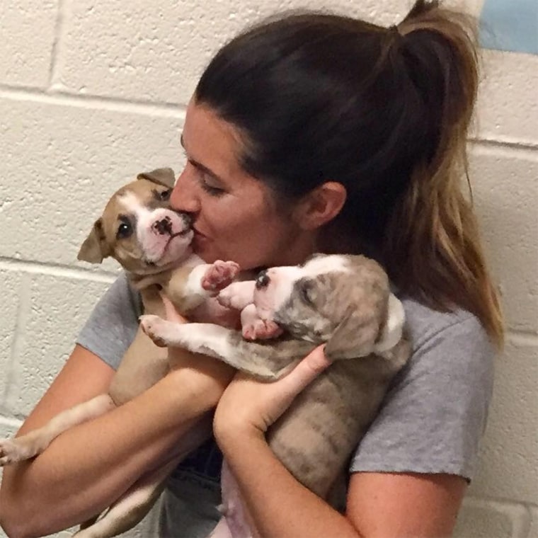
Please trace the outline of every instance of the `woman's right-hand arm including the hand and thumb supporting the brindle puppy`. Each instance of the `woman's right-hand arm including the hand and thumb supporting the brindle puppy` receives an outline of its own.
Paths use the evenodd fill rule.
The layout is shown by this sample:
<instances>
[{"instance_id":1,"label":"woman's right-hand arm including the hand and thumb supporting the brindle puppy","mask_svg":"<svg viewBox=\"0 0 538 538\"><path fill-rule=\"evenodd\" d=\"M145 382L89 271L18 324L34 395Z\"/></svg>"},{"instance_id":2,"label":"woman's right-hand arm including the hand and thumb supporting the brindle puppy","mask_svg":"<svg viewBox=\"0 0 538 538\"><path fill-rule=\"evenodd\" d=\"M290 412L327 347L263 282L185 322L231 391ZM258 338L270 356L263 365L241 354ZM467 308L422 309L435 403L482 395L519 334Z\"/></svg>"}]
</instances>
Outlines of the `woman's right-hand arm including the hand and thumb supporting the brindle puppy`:
<instances>
[{"instance_id":1,"label":"woman's right-hand arm including the hand and thumb supporting the brindle puppy","mask_svg":"<svg viewBox=\"0 0 538 538\"><path fill-rule=\"evenodd\" d=\"M265 441L265 430L324 367L321 350L280 382L239 375L215 414L215 434L263 537L449 536L466 482L447 474L355 473L341 515L304 488Z\"/></svg>"}]
</instances>

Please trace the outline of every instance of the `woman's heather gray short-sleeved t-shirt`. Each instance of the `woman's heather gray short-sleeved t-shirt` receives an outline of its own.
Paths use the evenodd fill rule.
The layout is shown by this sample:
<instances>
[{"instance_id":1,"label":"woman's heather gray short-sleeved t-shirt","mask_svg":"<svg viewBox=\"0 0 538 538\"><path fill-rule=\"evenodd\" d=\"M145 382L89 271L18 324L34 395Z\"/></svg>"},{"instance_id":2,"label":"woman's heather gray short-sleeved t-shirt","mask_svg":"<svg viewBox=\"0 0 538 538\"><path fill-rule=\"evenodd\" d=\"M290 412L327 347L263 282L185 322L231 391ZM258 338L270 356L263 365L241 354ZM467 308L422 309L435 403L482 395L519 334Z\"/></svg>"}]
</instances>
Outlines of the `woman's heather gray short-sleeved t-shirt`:
<instances>
[{"instance_id":1,"label":"woman's heather gray short-sleeved t-shirt","mask_svg":"<svg viewBox=\"0 0 538 538\"><path fill-rule=\"evenodd\" d=\"M493 345L467 311L438 312L399 297L413 342L350 462L350 472L447 473L471 480L493 387ZM139 296L120 275L77 343L114 368L137 331ZM205 537L219 519L222 455L213 440L180 464L161 500L160 536Z\"/></svg>"}]
</instances>

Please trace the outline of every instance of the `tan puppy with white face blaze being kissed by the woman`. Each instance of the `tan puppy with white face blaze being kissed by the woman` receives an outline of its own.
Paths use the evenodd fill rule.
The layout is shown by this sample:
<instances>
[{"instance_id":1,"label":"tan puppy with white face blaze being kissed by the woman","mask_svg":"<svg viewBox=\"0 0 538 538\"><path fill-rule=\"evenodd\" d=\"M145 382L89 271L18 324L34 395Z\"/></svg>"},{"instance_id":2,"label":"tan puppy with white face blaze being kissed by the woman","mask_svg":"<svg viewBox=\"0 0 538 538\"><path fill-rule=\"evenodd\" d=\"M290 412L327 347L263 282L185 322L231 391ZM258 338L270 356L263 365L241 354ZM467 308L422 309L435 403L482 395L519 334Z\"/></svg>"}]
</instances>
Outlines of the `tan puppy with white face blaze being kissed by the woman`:
<instances>
[{"instance_id":1,"label":"tan puppy with white face blaze being kissed by the woman","mask_svg":"<svg viewBox=\"0 0 538 538\"><path fill-rule=\"evenodd\" d=\"M214 290L229 284L239 266L232 262L205 264L193 254L190 241L193 231L190 218L171 210L168 199L175 181L171 168L141 173L136 181L120 188L110 198L79 251L78 258L101 263L115 258L127 271L130 281L140 290L144 312L164 315L159 284L183 314L197 318L197 309L211 301ZM216 300L213 302L217 304ZM231 320L237 326L238 316L219 316L228 309L218 307L219 322ZM204 319L206 311L200 311ZM211 312L210 312L211 314ZM212 319L210 317L210 319ZM166 350L156 347L138 331L122 357L108 394L101 394L83 404L69 408L52 418L42 428L15 439L0 440L0 465L19 462L40 454L57 435L120 406L159 381L175 365ZM97 522L86 522L77 533L79 538L112 537L130 529L147 513L162 489L162 483L178 461L207 439L211 433L209 418L203 418L188 437L168 454L166 462L155 462L153 469L127 491Z\"/></svg>"}]
</instances>

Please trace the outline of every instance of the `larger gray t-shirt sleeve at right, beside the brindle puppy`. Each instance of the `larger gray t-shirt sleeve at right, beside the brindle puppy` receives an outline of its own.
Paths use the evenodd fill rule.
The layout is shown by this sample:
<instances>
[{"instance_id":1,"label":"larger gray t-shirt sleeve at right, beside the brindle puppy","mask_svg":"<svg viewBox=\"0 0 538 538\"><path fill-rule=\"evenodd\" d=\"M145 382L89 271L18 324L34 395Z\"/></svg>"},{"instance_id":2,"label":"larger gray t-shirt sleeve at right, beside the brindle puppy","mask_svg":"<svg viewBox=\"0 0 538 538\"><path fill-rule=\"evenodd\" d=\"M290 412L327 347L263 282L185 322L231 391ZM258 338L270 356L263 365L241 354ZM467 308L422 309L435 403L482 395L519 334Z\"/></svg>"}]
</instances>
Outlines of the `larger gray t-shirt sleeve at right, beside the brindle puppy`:
<instances>
[{"instance_id":1,"label":"larger gray t-shirt sleeve at right, beside the brindle puppy","mask_svg":"<svg viewBox=\"0 0 538 538\"><path fill-rule=\"evenodd\" d=\"M469 314L418 343L353 455L350 471L471 480L493 387L491 342Z\"/></svg>"}]
</instances>

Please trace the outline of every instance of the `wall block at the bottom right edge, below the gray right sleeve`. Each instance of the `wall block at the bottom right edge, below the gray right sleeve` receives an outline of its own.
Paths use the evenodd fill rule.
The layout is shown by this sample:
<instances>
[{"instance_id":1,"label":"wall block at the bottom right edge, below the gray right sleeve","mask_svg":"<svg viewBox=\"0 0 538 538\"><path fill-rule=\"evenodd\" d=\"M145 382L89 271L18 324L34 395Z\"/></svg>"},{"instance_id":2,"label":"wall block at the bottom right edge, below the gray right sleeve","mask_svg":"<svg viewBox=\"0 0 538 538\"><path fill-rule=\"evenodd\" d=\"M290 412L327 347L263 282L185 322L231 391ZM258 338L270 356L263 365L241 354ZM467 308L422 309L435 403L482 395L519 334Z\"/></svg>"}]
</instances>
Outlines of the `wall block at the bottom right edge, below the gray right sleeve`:
<instances>
[{"instance_id":1,"label":"wall block at the bottom right edge, below the gray right sleeve","mask_svg":"<svg viewBox=\"0 0 538 538\"><path fill-rule=\"evenodd\" d=\"M529 518L522 505L466 498L454 538L526 538Z\"/></svg>"}]
</instances>

